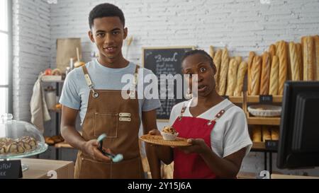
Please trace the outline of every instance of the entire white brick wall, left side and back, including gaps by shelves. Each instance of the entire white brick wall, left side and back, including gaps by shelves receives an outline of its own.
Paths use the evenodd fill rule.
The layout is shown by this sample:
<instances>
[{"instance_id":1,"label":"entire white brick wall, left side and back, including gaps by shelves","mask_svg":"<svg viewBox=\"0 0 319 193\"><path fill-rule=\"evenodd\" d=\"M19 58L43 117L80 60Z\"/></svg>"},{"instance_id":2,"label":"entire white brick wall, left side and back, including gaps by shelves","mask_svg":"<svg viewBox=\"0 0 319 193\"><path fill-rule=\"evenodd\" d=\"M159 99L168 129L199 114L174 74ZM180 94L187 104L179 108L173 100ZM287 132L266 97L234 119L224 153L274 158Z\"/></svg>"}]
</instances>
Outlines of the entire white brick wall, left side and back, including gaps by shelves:
<instances>
[{"instance_id":1,"label":"entire white brick wall, left side and back, including gaps by shelves","mask_svg":"<svg viewBox=\"0 0 319 193\"><path fill-rule=\"evenodd\" d=\"M89 11L104 2L58 0L49 6L43 0L14 1L13 105L17 117L30 117L28 103L38 72L49 62L55 68L57 38L81 37L83 59L91 60L89 54L96 48L87 37ZM208 50L210 45L226 46L231 55L247 57L250 51L261 54L278 40L299 42L303 35L319 33L319 0L270 0L271 4L260 4L259 0L107 2L123 9L129 36L134 37L128 59L138 64L141 47L195 45ZM159 123L159 128L163 125ZM263 164L262 153L250 153L242 170L261 171ZM319 175L318 170L306 172Z\"/></svg>"}]
</instances>

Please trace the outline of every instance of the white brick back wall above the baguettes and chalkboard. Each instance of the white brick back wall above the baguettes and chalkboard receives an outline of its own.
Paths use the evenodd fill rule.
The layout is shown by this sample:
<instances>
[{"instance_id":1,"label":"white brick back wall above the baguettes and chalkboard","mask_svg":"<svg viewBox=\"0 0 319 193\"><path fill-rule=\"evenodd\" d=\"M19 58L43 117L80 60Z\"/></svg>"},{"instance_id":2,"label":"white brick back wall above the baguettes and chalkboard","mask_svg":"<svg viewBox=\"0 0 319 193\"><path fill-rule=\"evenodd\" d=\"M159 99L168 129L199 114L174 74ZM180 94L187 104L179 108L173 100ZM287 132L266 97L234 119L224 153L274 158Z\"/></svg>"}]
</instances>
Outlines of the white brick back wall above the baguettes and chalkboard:
<instances>
[{"instance_id":1,"label":"white brick back wall above the baguettes and chalkboard","mask_svg":"<svg viewBox=\"0 0 319 193\"><path fill-rule=\"evenodd\" d=\"M82 37L84 60L96 50L87 37L91 8L106 1L58 1L52 5L52 60L55 40ZM301 36L318 34L318 0L162 0L107 1L123 9L129 35L135 38L128 59L140 64L141 47L196 45L208 50L228 47L230 54L246 57L261 54L278 40L300 41ZM124 50L125 51L125 50Z\"/></svg>"}]
</instances>

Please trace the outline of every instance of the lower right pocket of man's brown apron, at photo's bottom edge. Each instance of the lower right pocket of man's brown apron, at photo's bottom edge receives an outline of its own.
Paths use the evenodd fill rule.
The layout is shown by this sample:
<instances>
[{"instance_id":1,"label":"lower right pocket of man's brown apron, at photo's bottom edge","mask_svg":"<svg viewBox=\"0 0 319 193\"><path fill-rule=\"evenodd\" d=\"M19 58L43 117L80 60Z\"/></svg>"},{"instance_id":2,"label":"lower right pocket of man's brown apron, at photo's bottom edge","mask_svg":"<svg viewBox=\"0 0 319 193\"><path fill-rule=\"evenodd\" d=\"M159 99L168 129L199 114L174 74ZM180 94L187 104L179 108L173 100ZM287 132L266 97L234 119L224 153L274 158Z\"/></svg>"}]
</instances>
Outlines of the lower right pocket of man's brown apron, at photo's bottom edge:
<instances>
[{"instance_id":1,"label":"lower right pocket of man's brown apron, at photo's bottom edge","mask_svg":"<svg viewBox=\"0 0 319 193\"><path fill-rule=\"evenodd\" d=\"M144 177L140 158L124 160L120 163L111 163L112 179L142 179Z\"/></svg>"}]
</instances>

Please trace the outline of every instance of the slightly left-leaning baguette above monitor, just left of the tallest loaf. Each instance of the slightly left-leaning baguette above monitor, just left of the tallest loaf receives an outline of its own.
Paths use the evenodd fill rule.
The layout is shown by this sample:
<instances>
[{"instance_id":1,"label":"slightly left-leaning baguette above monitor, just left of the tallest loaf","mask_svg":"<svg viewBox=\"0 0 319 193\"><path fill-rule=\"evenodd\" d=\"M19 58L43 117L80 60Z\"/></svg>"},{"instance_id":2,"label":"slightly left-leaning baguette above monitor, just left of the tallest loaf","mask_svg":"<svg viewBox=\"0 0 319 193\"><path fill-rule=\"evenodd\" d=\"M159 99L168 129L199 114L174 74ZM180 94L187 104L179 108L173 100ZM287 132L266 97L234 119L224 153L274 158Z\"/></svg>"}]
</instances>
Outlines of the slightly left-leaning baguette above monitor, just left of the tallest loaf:
<instances>
[{"instance_id":1,"label":"slightly left-leaning baguette above monitor, just left of the tallest loaf","mask_svg":"<svg viewBox=\"0 0 319 193\"><path fill-rule=\"evenodd\" d=\"M298 54L296 45L293 42L289 43L289 57L290 57L290 68L291 68L291 80L292 81L301 81L300 71L298 64Z\"/></svg>"}]
</instances>

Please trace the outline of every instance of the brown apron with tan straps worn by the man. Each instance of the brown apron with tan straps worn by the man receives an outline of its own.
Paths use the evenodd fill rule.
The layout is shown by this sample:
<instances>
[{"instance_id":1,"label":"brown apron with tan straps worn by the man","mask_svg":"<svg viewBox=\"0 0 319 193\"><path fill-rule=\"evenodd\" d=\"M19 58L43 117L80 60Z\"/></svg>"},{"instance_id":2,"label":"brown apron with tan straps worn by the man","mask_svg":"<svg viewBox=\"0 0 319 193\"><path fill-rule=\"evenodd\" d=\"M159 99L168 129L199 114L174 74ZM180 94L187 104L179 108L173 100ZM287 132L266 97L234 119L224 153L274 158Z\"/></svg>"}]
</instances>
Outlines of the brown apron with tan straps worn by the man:
<instances>
[{"instance_id":1,"label":"brown apron with tan straps worn by the man","mask_svg":"<svg viewBox=\"0 0 319 193\"><path fill-rule=\"evenodd\" d=\"M114 154L122 153L120 163L102 163L92 160L82 151L79 151L75 164L74 178L94 179L139 179L144 178L138 131L140 116L138 99L125 100L122 90L94 90L86 66L82 66L86 83L91 89L86 116L82 125L82 136L86 141L97 139L106 134L103 148L111 149ZM138 83L138 69L135 69L133 86ZM133 93L135 92L135 93ZM130 91L130 94L136 91Z\"/></svg>"}]
</instances>

